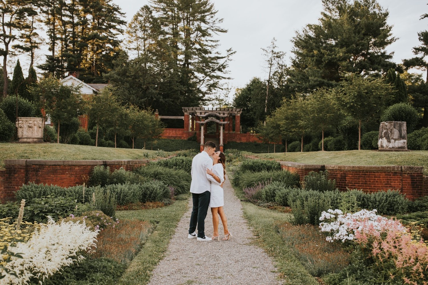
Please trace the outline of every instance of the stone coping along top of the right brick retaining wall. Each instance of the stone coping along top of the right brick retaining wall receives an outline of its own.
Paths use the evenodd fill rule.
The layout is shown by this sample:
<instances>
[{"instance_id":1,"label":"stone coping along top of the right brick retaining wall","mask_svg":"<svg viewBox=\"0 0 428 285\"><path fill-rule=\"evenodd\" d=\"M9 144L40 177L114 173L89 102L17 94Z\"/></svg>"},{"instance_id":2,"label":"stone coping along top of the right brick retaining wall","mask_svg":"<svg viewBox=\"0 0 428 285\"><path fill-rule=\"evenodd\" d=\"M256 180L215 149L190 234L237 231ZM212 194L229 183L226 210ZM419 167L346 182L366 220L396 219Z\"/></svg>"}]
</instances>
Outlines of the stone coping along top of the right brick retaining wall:
<instances>
[{"instance_id":1,"label":"stone coping along top of the right brick retaining wall","mask_svg":"<svg viewBox=\"0 0 428 285\"><path fill-rule=\"evenodd\" d=\"M303 169L319 169L319 170L353 170L353 171L414 171L422 172L422 166L405 166L405 165L312 165L298 162L279 162L280 165L285 165Z\"/></svg>"}]
</instances>

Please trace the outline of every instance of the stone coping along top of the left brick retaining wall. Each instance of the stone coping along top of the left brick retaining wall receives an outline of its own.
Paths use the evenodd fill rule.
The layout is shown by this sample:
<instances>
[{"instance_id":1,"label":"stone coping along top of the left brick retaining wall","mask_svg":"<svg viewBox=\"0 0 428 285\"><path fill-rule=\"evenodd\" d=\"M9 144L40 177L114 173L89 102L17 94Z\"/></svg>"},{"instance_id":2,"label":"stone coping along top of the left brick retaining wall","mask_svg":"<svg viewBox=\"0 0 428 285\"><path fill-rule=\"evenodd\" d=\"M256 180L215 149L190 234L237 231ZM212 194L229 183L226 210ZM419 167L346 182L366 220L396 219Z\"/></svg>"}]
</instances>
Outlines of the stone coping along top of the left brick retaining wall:
<instances>
[{"instance_id":1,"label":"stone coping along top of the left brick retaining wall","mask_svg":"<svg viewBox=\"0 0 428 285\"><path fill-rule=\"evenodd\" d=\"M123 160L42 160L42 159L5 159L5 165L128 165L147 164L146 159Z\"/></svg>"}]
</instances>

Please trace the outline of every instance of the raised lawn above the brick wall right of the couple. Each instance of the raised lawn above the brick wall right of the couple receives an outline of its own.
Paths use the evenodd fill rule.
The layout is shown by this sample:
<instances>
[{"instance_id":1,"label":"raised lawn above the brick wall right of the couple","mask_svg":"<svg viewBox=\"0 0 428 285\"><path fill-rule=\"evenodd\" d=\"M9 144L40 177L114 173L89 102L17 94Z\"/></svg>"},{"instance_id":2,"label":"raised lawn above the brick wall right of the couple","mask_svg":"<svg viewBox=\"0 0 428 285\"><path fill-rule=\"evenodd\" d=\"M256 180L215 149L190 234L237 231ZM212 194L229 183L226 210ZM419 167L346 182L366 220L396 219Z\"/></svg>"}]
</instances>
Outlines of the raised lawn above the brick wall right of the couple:
<instances>
[{"instance_id":1,"label":"raised lawn above the brick wall right of the couple","mask_svg":"<svg viewBox=\"0 0 428 285\"><path fill-rule=\"evenodd\" d=\"M428 151L382 152L375 150L314 151L296 153L248 153L245 155L277 161L315 165L407 165L423 166L428 175Z\"/></svg>"}]
</instances>

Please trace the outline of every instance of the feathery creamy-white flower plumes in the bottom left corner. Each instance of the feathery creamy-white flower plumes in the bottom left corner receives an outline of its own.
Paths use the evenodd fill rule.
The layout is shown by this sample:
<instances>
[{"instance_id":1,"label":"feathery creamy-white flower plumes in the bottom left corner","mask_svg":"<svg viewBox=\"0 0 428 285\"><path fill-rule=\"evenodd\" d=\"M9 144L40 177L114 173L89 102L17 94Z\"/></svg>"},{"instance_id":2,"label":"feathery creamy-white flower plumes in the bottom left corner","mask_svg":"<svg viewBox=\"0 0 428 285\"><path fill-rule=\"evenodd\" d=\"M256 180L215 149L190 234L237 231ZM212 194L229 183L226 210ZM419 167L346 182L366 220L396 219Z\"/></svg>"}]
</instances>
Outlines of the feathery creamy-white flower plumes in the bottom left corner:
<instances>
[{"instance_id":1,"label":"feathery creamy-white flower plumes in the bottom left corner","mask_svg":"<svg viewBox=\"0 0 428 285\"><path fill-rule=\"evenodd\" d=\"M43 281L62 267L83 260L80 253L95 247L97 235L98 231L91 231L85 223L55 223L48 217L48 223L41 224L27 242L13 247L22 258L12 257L5 267L17 276L6 274L1 284L23 285L34 279Z\"/></svg>"}]
</instances>

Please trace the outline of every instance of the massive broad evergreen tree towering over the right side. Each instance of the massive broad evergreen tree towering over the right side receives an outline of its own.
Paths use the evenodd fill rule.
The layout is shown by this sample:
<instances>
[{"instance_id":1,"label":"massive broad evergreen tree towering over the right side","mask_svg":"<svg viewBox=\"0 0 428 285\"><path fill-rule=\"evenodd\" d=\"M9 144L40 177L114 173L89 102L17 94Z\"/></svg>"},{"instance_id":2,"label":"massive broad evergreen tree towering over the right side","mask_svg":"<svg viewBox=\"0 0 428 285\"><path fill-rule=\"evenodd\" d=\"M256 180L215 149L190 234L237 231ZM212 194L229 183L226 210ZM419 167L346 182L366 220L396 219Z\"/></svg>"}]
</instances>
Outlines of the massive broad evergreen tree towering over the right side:
<instances>
[{"instance_id":1,"label":"massive broad evergreen tree towering over the right side","mask_svg":"<svg viewBox=\"0 0 428 285\"><path fill-rule=\"evenodd\" d=\"M308 24L292 39L294 58L287 84L295 92L332 88L341 72L383 73L394 64L385 48L395 41L388 11L376 0L323 0L318 24Z\"/></svg>"}]
</instances>

